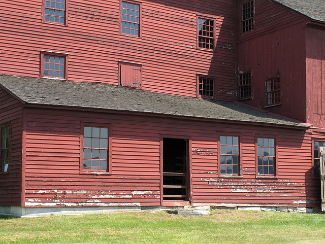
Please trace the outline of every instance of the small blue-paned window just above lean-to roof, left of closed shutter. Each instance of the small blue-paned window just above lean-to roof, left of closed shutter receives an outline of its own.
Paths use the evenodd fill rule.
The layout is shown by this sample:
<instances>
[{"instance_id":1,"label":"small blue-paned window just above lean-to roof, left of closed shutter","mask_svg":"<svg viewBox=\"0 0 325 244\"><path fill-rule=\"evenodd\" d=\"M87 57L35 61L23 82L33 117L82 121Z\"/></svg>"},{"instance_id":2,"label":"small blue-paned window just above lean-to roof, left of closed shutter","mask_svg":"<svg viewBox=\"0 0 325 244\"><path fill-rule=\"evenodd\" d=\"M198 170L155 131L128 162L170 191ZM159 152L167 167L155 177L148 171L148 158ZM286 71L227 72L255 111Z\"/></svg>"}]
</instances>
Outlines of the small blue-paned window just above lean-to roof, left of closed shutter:
<instances>
[{"instance_id":1,"label":"small blue-paned window just above lean-to roof, left of closed shutter","mask_svg":"<svg viewBox=\"0 0 325 244\"><path fill-rule=\"evenodd\" d=\"M44 55L44 77L65 78L66 57Z\"/></svg>"}]
</instances>

